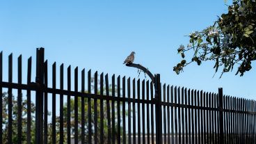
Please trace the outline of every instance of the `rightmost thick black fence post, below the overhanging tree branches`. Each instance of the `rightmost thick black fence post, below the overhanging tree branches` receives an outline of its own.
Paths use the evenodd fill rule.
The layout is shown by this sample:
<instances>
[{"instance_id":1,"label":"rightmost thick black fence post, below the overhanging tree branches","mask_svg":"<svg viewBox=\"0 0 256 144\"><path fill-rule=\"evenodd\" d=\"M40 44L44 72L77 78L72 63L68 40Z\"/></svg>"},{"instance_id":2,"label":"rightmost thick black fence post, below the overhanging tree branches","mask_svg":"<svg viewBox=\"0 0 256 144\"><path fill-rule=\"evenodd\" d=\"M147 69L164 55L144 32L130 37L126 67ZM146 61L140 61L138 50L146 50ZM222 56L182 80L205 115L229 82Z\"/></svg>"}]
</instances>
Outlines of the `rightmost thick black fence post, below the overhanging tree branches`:
<instances>
[{"instance_id":1,"label":"rightmost thick black fence post, below the overhanging tree branches","mask_svg":"<svg viewBox=\"0 0 256 144\"><path fill-rule=\"evenodd\" d=\"M220 122L220 143L224 143L224 130L223 130L223 88L218 88L218 111Z\"/></svg>"}]
</instances>

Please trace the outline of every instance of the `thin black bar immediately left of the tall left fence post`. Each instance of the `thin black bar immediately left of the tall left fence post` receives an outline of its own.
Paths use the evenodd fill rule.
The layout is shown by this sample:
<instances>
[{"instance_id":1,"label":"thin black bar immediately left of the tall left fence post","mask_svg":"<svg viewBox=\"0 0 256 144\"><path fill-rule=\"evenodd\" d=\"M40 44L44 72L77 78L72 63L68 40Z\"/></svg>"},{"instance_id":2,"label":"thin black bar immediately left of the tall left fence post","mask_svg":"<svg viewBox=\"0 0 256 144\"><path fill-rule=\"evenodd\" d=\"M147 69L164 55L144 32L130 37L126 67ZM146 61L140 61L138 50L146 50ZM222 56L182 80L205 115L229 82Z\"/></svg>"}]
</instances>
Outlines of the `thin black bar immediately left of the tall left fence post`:
<instances>
[{"instance_id":1,"label":"thin black bar immediately left of the tall left fence post","mask_svg":"<svg viewBox=\"0 0 256 144\"><path fill-rule=\"evenodd\" d=\"M1 63L0 63L1 65ZM31 83L31 66L32 66L32 58L28 59L28 74L26 84L29 85ZM1 66L0 66L1 67ZM1 69L1 68L0 68ZM0 70L1 72L1 70ZM1 77L1 74L0 74ZM1 79L1 78L0 78ZM1 90L1 89L0 89ZM1 92L0 92L1 93ZM26 122L26 143L31 144L31 90L26 90L26 106L27 106L27 122ZM1 113L1 112L0 112ZM1 118L0 118L1 119ZM1 123L1 122L0 122Z\"/></svg>"}]
</instances>

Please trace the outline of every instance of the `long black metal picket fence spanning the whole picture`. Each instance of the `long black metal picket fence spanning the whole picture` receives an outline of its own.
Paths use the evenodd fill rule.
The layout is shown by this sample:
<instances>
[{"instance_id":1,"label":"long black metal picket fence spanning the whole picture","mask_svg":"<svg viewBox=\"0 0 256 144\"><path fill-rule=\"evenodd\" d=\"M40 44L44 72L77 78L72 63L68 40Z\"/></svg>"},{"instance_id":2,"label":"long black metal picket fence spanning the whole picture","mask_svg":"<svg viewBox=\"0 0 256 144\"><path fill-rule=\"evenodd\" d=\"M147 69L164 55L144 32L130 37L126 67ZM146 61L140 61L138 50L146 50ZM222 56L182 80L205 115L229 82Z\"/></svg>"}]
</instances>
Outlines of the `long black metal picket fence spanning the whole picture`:
<instances>
[{"instance_id":1,"label":"long black metal picket fence spanning the whole picture","mask_svg":"<svg viewBox=\"0 0 256 144\"><path fill-rule=\"evenodd\" d=\"M1 52L0 93L8 89L7 108L3 106L3 98L0 99L0 113L8 111L8 122L3 122L4 115L0 115L1 143L5 143L4 140L7 143L255 143L255 101L225 96L222 88L217 94L161 85L159 74L156 81L121 79L120 76L116 79L113 75L109 82L108 74L102 73L98 81L97 72L92 77L89 70L86 89L85 70L81 70L79 81L78 67L74 74L71 67L67 67L64 76L63 64L57 88L56 63L51 67L50 88L43 48L37 49L35 82L31 82L31 58L26 84L22 83L22 56L17 66L17 83L14 83L13 55L10 54L8 81L3 81L6 67L3 67ZM17 90L17 113L13 112L13 90ZM22 95L24 90L26 97ZM35 118L31 112L31 93L35 93ZM13 115L17 115L17 120ZM3 129L7 129L7 139L3 138Z\"/></svg>"}]
</instances>

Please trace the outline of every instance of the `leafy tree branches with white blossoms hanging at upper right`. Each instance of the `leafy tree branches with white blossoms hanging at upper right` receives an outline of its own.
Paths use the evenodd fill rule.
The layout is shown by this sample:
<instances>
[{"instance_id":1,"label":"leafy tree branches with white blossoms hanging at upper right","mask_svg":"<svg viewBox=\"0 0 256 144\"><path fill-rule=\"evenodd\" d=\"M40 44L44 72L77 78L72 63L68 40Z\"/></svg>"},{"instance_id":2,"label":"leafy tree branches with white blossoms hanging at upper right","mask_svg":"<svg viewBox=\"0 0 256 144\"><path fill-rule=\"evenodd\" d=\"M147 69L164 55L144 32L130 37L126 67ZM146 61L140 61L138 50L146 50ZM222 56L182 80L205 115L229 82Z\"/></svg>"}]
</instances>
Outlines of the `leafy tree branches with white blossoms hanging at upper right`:
<instances>
[{"instance_id":1,"label":"leafy tree branches with white blossoms hanging at upper right","mask_svg":"<svg viewBox=\"0 0 256 144\"><path fill-rule=\"evenodd\" d=\"M200 65L202 61L215 61L215 72L222 68L230 72L238 67L237 74L251 70L256 60L256 1L233 0L228 12L223 13L212 26L189 35L189 45L177 49L183 60L173 70L179 74L192 62ZM193 51L191 61L184 59L185 52Z\"/></svg>"}]
</instances>

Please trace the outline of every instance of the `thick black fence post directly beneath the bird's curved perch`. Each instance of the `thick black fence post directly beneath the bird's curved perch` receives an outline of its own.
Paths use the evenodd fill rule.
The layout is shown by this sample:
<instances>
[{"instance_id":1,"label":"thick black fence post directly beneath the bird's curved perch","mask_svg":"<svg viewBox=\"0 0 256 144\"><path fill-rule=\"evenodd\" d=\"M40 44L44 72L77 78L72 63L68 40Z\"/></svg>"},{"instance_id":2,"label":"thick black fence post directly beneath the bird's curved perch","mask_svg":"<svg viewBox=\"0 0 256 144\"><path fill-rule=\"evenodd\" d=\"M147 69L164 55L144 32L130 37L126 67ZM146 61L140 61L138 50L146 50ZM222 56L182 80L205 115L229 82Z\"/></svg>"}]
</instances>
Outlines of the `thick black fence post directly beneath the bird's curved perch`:
<instances>
[{"instance_id":1,"label":"thick black fence post directly beneath the bird's curved perch","mask_svg":"<svg viewBox=\"0 0 256 144\"><path fill-rule=\"evenodd\" d=\"M162 143L162 110L161 110L161 84L160 74L154 75L154 88L155 88L155 99L156 99L156 142L157 144Z\"/></svg>"}]
</instances>

